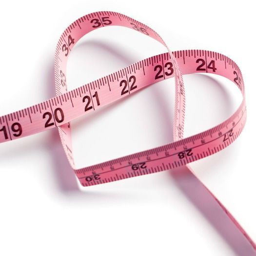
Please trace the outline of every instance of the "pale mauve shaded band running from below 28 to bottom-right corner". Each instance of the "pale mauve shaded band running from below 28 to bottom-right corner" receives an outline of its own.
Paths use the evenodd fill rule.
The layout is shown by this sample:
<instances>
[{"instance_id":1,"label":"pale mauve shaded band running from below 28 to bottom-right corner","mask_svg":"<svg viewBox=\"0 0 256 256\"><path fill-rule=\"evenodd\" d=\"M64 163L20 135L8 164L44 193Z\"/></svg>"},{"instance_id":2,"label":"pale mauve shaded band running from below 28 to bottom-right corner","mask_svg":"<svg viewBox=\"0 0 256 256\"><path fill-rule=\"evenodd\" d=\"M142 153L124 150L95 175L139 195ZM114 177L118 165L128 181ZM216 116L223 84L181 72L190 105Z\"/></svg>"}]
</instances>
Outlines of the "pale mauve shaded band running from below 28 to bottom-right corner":
<instances>
[{"instance_id":1,"label":"pale mauve shaded band running from below 28 to bottom-right corner","mask_svg":"<svg viewBox=\"0 0 256 256\"><path fill-rule=\"evenodd\" d=\"M186 167L169 171L175 183L218 234L239 256L255 256L256 252L217 201ZM189 216L188 216L189 217ZM216 254L218 255L218 254Z\"/></svg>"}]
</instances>

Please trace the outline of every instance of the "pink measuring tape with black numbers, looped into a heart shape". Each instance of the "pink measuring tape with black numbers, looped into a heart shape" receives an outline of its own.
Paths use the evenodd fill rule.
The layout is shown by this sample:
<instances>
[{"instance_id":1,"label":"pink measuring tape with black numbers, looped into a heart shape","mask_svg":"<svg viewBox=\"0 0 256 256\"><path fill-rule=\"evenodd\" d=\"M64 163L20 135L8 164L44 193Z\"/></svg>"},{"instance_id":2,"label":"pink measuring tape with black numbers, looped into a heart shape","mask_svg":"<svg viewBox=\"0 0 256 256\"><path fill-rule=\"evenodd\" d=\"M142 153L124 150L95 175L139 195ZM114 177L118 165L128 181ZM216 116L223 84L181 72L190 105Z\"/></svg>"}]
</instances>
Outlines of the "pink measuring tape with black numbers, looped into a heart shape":
<instances>
[{"instance_id":1,"label":"pink measuring tape with black numbers, looped into a heart shape","mask_svg":"<svg viewBox=\"0 0 256 256\"><path fill-rule=\"evenodd\" d=\"M85 34L104 26L125 26L158 40L168 50L144 59L113 74L67 91L67 58ZM230 79L239 88L243 100L236 112L224 122L197 135L183 138L185 91L183 74L212 73ZM174 142L126 157L76 169L72 154L70 121L107 105L157 81L175 78ZM171 52L163 39L150 27L116 12L95 12L74 21L61 35L55 53L56 97L0 117L0 142L39 133L58 126L60 139L80 183L96 185L139 175L156 173L187 165L227 147L241 133L246 120L242 74L228 57L205 50ZM210 192L211 193L211 192ZM217 200L217 198L211 193ZM256 250L256 244L234 217L217 200Z\"/></svg>"}]
</instances>

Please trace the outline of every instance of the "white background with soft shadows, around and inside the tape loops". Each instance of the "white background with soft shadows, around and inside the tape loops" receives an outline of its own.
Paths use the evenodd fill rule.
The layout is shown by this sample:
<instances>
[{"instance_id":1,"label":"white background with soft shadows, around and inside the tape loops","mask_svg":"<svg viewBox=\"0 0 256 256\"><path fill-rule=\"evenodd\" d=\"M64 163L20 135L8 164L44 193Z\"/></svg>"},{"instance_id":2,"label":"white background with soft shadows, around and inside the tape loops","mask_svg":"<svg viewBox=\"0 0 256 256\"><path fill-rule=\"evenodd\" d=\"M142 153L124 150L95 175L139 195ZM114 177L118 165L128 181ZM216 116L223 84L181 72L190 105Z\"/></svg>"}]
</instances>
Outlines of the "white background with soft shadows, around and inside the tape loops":
<instances>
[{"instance_id":1,"label":"white background with soft shadows, around and inside the tape loops","mask_svg":"<svg viewBox=\"0 0 256 256\"><path fill-rule=\"evenodd\" d=\"M248 119L241 136L191 164L256 240L255 13L252 1L5 1L0 8L0 116L51 98L62 31L95 11L155 29L172 50L223 53L240 66ZM79 41L68 88L166 49L120 27ZM227 79L184 76L185 136L228 118L241 97ZM73 122L78 167L172 141L173 79ZM251 246L191 174L182 170L81 188L56 129L0 144L0 255L252 256Z\"/></svg>"}]
</instances>

